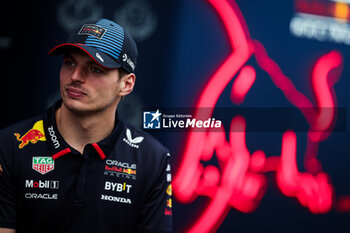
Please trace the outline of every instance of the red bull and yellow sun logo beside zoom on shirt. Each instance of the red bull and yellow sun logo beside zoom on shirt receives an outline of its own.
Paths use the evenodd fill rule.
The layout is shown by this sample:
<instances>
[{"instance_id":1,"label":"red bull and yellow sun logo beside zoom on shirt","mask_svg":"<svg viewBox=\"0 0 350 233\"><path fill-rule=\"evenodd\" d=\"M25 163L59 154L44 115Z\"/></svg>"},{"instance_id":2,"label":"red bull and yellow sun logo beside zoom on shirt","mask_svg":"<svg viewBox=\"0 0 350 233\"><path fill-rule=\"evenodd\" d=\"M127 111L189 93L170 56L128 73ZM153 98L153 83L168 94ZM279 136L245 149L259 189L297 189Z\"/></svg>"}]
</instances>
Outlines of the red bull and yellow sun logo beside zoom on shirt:
<instances>
[{"instance_id":1,"label":"red bull and yellow sun logo beside zoom on shirt","mask_svg":"<svg viewBox=\"0 0 350 233\"><path fill-rule=\"evenodd\" d=\"M14 135L16 136L17 141L21 142L18 146L20 149L28 145L29 142L35 144L38 141L46 141L42 120L35 122L33 128L26 132L22 137L19 133L15 133Z\"/></svg>"}]
</instances>

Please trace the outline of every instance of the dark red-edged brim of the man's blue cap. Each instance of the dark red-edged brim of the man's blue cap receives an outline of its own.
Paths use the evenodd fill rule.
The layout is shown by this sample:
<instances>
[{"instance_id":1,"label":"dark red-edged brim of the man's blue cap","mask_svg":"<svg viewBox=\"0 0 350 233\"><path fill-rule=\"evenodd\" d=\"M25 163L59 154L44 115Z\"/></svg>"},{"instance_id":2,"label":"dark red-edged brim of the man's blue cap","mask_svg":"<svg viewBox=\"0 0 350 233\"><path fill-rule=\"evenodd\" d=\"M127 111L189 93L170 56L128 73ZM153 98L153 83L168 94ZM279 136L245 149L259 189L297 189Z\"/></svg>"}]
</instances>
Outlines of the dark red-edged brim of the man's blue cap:
<instances>
[{"instance_id":1,"label":"dark red-edged brim of the man's blue cap","mask_svg":"<svg viewBox=\"0 0 350 233\"><path fill-rule=\"evenodd\" d=\"M118 64L114 59L112 59L110 56L102 52L101 50L98 50L94 47L86 46L84 44L73 44L73 43L64 43L57 45L53 49L49 51L50 56L56 56L61 55L67 51L69 48L79 48L82 51L84 51L89 57L91 57L94 62L102 66L106 69L115 69L122 67L120 64Z\"/></svg>"}]
</instances>

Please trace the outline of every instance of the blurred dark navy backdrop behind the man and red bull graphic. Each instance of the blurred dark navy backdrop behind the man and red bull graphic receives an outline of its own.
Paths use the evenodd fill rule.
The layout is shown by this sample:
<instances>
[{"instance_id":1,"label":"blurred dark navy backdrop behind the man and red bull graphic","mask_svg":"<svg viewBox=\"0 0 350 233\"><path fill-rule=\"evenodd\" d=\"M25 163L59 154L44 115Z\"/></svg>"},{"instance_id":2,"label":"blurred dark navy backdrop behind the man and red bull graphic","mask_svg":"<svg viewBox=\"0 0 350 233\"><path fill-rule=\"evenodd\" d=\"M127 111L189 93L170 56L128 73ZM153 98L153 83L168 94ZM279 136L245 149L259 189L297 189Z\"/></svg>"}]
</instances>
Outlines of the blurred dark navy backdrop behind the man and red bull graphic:
<instances>
[{"instance_id":1,"label":"blurred dark navy backdrop behind the man and red bull graphic","mask_svg":"<svg viewBox=\"0 0 350 233\"><path fill-rule=\"evenodd\" d=\"M345 0L236 2L251 37L264 45L283 73L312 101L315 100L310 82L312 67L322 55L339 51L344 67L335 85L337 104L349 108L350 3ZM339 4L337 14L329 13L333 12L329 10L332 4ZM300 14L301 10L309 12ZM136 87L118 111L141 128L143 108L194 106L206 81L231 52L220 18L205 0L11 1L2 11L0 128L42 113L59 98L61 58L49 57L47 53L66 40L74 25L86 19L115 20L136 39L139 49ZM348 18L344 18L346 14ZM314 31L304 30L303 23L295 25L293 20L304 25L307 20L316 20L318 26ZM338 29L325 36L322 30L330 24ZM292 106L254 59L248 64L256 68L257 74L243 106ZM220 104L234 106L229 91L220 97ZM176 173L186 133L162 130L150 133L172 152ZM268 155L279 155L281 135L282 132L248 135L248 149L264 149ZM303 139L305 134L301 133L298 136L300 170L303 170ZM349 140L346 129L333 133L319 148L318 158L335 188L335 203L337 198L350 195ZM268 189L258 209L244 214L231 208L217 232L350 232L348 212L340 212L334 206L326 214L312 214L279 191L273 173L267 174L267 178ZM199 197L192 204L183 204L175 199L174 232L186 232L207 200Z\"/></svg>"}]
</instances>

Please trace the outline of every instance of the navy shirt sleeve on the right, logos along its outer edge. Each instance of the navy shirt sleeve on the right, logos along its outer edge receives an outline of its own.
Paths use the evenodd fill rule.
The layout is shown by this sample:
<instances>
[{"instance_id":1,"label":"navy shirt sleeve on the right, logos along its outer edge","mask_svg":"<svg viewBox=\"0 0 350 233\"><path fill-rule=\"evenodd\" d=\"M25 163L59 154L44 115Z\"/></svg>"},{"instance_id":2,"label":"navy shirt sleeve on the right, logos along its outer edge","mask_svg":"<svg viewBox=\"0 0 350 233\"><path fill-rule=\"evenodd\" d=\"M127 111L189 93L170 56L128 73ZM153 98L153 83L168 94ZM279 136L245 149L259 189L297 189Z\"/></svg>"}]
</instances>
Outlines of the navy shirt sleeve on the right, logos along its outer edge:
<instances>
[{"instance_id":1,"label":"navy shirt sleeve on the right, logos along its outer edge","mask_svg":"<svg viewBox=\"0 0 350 233\"><path fill-rule=\"evenodd\" d=\"M172 232L172 188L168 151L162 157L159 167L159 175L141 213L142 222L138 225L138 233Z\"/></svg>"}]
</instances>

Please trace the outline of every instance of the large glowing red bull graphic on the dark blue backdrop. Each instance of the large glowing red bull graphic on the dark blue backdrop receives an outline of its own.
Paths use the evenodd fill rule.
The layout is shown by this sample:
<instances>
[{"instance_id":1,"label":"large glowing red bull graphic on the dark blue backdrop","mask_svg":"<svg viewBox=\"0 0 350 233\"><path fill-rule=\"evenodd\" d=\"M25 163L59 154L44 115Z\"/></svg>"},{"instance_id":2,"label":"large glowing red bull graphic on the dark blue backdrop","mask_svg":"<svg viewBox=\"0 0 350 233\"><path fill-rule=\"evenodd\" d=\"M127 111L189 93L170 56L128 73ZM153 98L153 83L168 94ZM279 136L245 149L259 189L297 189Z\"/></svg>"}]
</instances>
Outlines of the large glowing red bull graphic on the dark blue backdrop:
<instances>
[{"instance_id":1,"label":"large glowing red bull graphic on the dark blue backdrop","mask_svg":"<svg viewBox=\"0 0 350 233\"><path fill-rule=\"evenodd\" d=\"M297 90L291 79L268 56L264 46L250 38L243 15L234 1L208 2L224 24L232 52L199 94L195 108L212 109L200 117L207 119L212 116L220 95L232 79L231 100L235 105L244 103L257 78L255 68L246 65L248 59L254 58L258 67L270 76L291 105L300 110L309 125L304 154L305 172L297 167L297 134L293 130L283 132L278 142L281 145L279 156L267 156L263 150L249 150L244 116L232 118L228 135L224 128L221 132L190 131L173 181L174 195L181 203L192 202L199 196L208 197L210 201L186 232L214 232L230 208L244 213L255 211L268 188L268 172L275 173L277 186L283 195L297 199L313 214L327 213L332 207L349 210L347 197L334 198L331 178L317 158L319 145L332 134L337 119L334 85L342 72L342 54L329 51L316 61L310 78L316 99L313 102ZM193 115L199 117L196 111ZM218 166L204 165L214 155Z\"/></svg>"}]
</instances>

